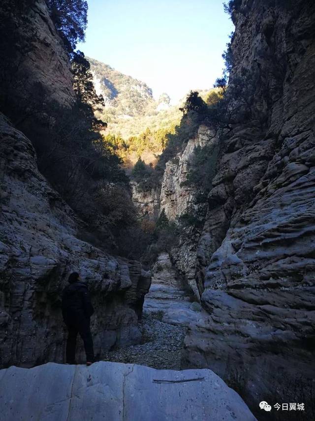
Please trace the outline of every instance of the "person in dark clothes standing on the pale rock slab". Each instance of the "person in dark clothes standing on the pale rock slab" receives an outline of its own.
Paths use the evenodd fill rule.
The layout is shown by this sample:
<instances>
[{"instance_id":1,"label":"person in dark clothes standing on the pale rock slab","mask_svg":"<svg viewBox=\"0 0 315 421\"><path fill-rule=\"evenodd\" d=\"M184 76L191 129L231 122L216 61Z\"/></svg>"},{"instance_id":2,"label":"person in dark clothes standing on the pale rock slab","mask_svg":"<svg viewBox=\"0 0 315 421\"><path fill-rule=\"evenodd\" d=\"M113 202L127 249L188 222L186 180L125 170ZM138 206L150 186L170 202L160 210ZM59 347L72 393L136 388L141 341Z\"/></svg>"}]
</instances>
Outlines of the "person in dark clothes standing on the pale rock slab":
<instances>
[{"instance_id":1,"label":"person in dark clothes standing on the pale rock slab","mask_svg":"<svg viewBox=\"0 0 315 421\"><path fill-rule=\"evenodd\" d=\"M90 317L94 313L88 287L79 273L69 276L69 285L63 290L63 320L68 328L66 344L66 364L75 364L75 346L80 334L87 356L87 365L94 362L93 339L90 330Z\"/></svg>"}]
</instances>

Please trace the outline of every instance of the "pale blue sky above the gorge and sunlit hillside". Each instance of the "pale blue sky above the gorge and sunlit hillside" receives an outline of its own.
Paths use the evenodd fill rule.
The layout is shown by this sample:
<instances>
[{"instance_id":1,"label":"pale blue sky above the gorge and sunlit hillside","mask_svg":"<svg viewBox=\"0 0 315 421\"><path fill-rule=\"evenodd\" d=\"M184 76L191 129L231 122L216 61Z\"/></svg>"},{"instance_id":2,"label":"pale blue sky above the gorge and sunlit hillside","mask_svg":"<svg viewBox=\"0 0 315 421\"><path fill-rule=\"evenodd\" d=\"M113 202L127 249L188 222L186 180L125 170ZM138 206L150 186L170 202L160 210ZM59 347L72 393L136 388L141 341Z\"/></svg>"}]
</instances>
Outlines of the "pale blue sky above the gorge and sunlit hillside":
<instances>
[{"instance_id":1,"label":"pale blue sky above the gorge and sunlit hillside","mask_svg":"<svg viewBox=\"0 0 315 421\"><path fill-rule=\"evenodd\" d=\"M140 79L177 102L209 89L223 69L234 30L221 0L88 0L88 57Z\"/></svg>"}]
</instances>

